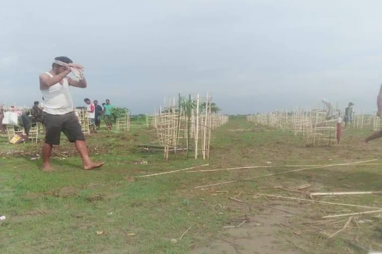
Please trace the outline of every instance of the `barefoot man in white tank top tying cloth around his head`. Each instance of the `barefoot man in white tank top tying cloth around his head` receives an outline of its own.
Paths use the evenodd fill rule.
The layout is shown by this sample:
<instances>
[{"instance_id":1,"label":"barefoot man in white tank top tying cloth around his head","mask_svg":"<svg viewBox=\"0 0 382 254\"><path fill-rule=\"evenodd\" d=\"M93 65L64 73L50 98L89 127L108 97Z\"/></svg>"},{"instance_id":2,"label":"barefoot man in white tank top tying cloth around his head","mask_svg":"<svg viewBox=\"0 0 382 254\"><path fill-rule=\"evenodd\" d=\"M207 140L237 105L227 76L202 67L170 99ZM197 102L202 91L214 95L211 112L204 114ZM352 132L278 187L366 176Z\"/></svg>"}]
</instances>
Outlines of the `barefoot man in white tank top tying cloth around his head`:
<instances>
[{"instance_id":1,"label":"barefoot man in white tank top tying cloth around his head","mask_svg":"<svg viewBox=\"0 0 382 254\"><path fill-rule=\"evenodd\" d=\"M93 162L88 153L85 135L74 113L72 96L69 86L86 88L84 76L80 80L67 75L71 72L73 61L67 57L54 59L52 69L40 74L40 91L44 98L44 126L46 130L45 143L42 147L43 170L52 171L50 156L53 145L60 144L61 131L70 142L74 142L81 155L84 169L99 168L103 163Z\"/></svg>"}]
</instances>

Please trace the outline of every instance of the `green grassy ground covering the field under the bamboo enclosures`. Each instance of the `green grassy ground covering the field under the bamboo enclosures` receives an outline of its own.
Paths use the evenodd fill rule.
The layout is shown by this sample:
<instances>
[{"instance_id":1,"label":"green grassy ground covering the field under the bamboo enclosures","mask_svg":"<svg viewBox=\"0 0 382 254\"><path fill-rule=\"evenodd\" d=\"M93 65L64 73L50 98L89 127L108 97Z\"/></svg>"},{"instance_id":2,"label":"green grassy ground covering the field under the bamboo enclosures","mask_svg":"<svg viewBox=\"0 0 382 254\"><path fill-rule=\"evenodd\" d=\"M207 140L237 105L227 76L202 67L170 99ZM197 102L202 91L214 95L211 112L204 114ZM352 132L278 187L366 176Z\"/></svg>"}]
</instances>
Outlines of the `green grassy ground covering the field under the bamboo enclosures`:
<instances>
[{"instance_id":1,"label":"green grassy ground covering the field under the bamboo enclosures","mask_svg":"<svg viewBox=\"0 0 382 254\"><path fill-rule=\"evenodd\" d=\"M227 131L235 128L261 130ZM358 148L358 139L369 133L351 130L345 133L341 146L307 148L300 137L235 118L213 132L207 162L210 166L204 169L268 165L267 162L272 165L334 164L379 159L381 141L371 143L366 151ZM135 178L206 163L201 159L187 160L182 154L171 155L166 162L161 151L135 147L136 143L156 142L155 131L144 124L134 126L127 133L99 131L90 136L88 145L92 158L106 163L100 170L91 172L81 169L74 147L64 138L52 159L56 171L49 174L40 170L41 159L30 160L40 153L41 144L10 145L4 139L0 141L0 215L7 217L0 222L1 253L188 253L191 244L207 245L211 239L221 236L222 227L232 216L248 212L246 207L228 199L235 193L243 192L240 198L252 202L256 192L293 196L293 193L277 190L259 190L261 186L293 187L308 182L320 187L320 191L349 190L345 185L354 191L381 189L380 166L302 171L204 190L194 187L286 169L179 172ZM7 151L16 151L18 155L12 156ZM141 161L147 161L147 165L140 164ZM229 193L216 194L217 190ZM204 198L207 205L198 197ZM265 199L256 202L261 200L266 202ZM331 200L382 205L380 196ZM218 203L222 208L216 205ZM311 206L309 211L314 208L325 211L325 207L319 205ZM252 208L252 213L256 212L256 208ZM378 223L376 226L381 226L381 221ZM190 226L191 230L181 242L171 243L171 239L178 239ZM97 231L104 234L98 236ZM129 236L131 233L136 235ZM378 242L373 229L366 230L365 236L371 242ZM328 251L327 239L311 237L314 241L307 248L317 248L321 253ZM368 239L365 243L369 243ZM336 242L330 248L344 251L345 247L344 243Z\"/></svg>"}]
</instances>

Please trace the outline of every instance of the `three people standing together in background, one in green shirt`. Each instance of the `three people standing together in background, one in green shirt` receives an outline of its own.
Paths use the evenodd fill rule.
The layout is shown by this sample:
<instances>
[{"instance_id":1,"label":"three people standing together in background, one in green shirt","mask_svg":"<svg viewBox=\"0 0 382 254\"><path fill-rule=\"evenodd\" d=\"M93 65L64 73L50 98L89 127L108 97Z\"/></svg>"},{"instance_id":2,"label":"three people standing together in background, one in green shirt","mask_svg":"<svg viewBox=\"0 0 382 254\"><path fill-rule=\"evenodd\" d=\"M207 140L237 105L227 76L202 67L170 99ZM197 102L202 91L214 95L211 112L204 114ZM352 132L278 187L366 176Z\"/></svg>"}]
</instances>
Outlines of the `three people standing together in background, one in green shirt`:
<instances>
[{"instance_id":1,"label":"three people standing together in background, one in green shirt","mask_svg":"<svg viewBox=\"0 0 382 254\"><path fill-rule=\"evenodd\" d=\"M100 128L102 115L104 116L106 129L111 129L113 120L111 110L114 106L110 104L110 100L107 99L102 103L102 106L98 104L97 100L92 103L89 98L85 98L84 102L86 103L86 111L91 124L91 131L94 132L96 128Z\"/></svg>"}]
</instances>

